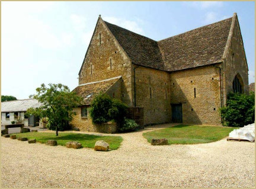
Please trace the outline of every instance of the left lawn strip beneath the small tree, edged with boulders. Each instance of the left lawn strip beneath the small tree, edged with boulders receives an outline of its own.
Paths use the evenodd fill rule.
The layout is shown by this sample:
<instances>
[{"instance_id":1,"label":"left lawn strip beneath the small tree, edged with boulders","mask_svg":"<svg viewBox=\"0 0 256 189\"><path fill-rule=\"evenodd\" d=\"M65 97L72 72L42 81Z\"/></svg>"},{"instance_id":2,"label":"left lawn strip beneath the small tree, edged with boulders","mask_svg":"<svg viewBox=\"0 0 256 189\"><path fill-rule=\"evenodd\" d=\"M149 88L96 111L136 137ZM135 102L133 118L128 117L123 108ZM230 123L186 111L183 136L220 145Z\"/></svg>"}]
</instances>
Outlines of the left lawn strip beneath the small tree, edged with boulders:
<instances>
[{"instance_id":1,"label":"left lawn strip beneath the small tree, edged with boulders","mask_svg":"<svg viewBox=\"0 0 256 189\"><path fill-rule=\"evenodd\" d=\"M104 140L110 145L110 149L118 149L123 141L120 136L96 136L93 134L80 134L80 133L62 133L59 136L56 133L43 133L43 132L28 132L16 133L16 137L27 137L28 140L36 139L37 142L46 143L47 140L56 140L57 145L65 146L66 142L78 141L84 148L94 148L97 140Z\"/></svg>"}]
</instances>

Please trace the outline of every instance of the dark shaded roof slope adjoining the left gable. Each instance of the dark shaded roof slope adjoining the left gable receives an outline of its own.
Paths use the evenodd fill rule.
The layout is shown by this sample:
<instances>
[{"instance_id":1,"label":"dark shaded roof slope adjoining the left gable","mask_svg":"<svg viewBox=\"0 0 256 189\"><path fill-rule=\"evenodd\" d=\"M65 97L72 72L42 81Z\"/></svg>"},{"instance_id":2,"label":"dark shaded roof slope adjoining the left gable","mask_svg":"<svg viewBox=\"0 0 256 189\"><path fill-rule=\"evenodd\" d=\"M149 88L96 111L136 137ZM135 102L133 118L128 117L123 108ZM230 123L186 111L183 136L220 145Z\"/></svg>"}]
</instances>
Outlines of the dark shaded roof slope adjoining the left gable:
<instances>
[{"instance_id":1,"label":"dark shaded roof slope adjoining the left gable","mask_svg":"<svg viewBox=\"0 0 256 189\"><path fill-rule=\"evenodd\" d=\"M133 63L156 69L163 68L164 63L162 62L162 55L159 51L157 41L140 36L106 21L104 22Z\"/></svg>"}]
</instances>

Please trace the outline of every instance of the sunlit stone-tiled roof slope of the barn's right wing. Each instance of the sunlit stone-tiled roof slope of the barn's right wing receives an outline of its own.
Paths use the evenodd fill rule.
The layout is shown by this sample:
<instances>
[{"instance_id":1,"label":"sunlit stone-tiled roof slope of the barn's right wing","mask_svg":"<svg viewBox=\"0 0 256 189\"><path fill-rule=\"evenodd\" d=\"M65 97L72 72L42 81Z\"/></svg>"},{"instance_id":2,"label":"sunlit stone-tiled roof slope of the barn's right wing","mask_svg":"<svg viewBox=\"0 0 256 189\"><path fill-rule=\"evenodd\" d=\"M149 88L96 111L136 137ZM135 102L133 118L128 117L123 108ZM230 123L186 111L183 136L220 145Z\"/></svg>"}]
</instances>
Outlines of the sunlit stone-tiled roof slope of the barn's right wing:
<instances>
[{"instance_id":1,"label":"sunlit stone-tiled roof slope of the barn's right wing","mask_svg":"<svg viewBox=\"0 0 256 189\"><path fill-rule=\"evenodd\" d=\"M232 18L158 41L168 71L222 62Z\"/></svg>"}]
</instances>

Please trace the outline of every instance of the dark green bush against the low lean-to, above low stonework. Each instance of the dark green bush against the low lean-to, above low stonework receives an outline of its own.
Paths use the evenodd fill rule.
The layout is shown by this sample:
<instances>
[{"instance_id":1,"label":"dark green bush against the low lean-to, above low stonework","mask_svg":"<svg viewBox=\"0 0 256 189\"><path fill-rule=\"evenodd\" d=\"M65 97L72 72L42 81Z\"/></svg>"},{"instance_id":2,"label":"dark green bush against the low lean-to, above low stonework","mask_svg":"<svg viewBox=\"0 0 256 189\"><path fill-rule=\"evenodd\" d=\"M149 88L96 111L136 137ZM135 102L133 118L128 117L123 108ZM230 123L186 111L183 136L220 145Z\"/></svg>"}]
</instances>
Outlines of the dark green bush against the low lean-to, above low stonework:
<instances>
[{"instance_id":1,"label":"dark green bush against the low lean-to, above low stonework","mask_svg":"<svg viewBox=\"0 0 256 189\"><path fill-rule=\"evenodd\" d=\"M118 126L126 116L127 105L120 100L111 99L107 94L98 94L91 103L90 116L93 123L106 123L114 120Z\"/></svg>"}]
</instances>

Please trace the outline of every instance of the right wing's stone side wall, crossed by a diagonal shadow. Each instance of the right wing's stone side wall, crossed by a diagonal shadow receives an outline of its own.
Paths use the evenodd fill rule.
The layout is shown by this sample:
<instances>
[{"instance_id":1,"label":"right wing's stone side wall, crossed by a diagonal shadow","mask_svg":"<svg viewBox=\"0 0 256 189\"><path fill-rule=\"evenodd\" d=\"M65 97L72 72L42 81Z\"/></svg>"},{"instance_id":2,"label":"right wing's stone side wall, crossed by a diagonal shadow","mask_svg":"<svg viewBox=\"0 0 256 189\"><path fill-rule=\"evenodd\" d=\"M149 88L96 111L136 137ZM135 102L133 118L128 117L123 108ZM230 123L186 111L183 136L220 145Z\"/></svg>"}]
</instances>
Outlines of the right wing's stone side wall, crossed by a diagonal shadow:
<instances>
[{"instance_id":1,"label":"right wing's stone side wall, crossed by a diagonal shadow","mask_svg":"<svg viewBox=\"0 0 256 189\"><path fill-rule=\"evenodd\" d=\"M214 66L170 74L171 104L182 104L183 123L221 124L219 81L219 68Z\"/></svg>"}]
</instances>

